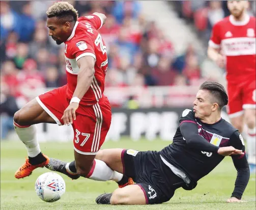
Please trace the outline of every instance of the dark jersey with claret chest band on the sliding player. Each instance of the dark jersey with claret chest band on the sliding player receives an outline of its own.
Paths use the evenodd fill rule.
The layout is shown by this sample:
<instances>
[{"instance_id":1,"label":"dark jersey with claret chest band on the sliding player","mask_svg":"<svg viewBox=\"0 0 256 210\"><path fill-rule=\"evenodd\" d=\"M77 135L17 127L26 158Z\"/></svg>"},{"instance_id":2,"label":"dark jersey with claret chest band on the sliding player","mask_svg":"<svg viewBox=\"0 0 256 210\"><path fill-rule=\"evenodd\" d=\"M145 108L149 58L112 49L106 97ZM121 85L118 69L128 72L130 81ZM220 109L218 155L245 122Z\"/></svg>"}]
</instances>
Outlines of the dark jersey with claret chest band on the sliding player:
<instances>
[{"instance_id":1,"label":"dark jersey with claret chest band on the sliding player","mask_svg":"<svg viewBox=\"0 0 256 210\"><path fill-rule=\"evenodd\" d=\"M187 109L181 114L179 122L180 126L184 122L196 124L198 135L215 146L233 146L244 151L242 136L237 129L222 118L214 124L206 124L195 118L192 110ZM223 160L224 156L217 152L206 152L188 147L181 134L180 126L177 128L173 143L163 148L160 154L167 162L185 172L190 179L197 181L211 172ZM233 159L240 158L242 156Z\"/></svg>"}]
</instances>

